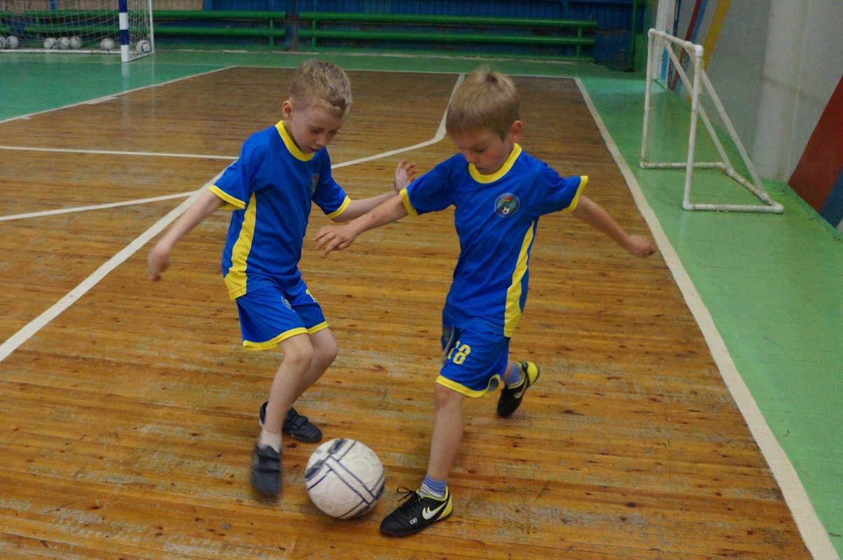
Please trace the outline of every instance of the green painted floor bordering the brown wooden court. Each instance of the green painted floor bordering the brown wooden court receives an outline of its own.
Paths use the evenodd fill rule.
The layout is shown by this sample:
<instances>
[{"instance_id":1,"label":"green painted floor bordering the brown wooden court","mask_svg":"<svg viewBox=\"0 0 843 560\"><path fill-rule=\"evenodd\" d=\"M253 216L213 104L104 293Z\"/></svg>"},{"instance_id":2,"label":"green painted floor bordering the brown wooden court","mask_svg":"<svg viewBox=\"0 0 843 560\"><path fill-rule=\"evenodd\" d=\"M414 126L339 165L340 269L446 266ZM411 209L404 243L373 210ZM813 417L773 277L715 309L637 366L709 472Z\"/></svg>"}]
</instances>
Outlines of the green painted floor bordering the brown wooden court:
<instances>
[{"instance_id":1,"label":"green painted floor bordering the brown wooden court","mask_svg":"<svg viewBox=\"0 0 843 560\"><path fill-rule=\"evenodd\" d=\"M295 67L312 56L159 50L154 57L122 65L113 57L96 55L3 53L0 121L218 67ZM829 536L839 557L843 551L843 239L835 229L778 183L765 186L785 206L781 215L683 211L684 171L637 166L642 73L549 61L324 52L318 56L349 70L458 73L488 62L505 73L580 78L626 160L635 188L640 187L668 240L663 253L675 251L674 274L686 273L692 296L699 295L699 301L689 300L690 306L711 315L716 327L711 340L716 346L722 337L728 353L725 363L733 364L749 389L751 396L746 398L757 404L763 416L758 420L765 421L787 455L781 459L792 465L810 500L807 508L813 506L822 523L819 530ZM680 119L687 118L686 111L680 110ZM681 148L684 142L674 138L664 144ZM695 194L699 197L695 202L754 202L742 187L715 172L700 174ZM795 513L797 518L801 515ZM822 554L817 550L817 558L834 556L829 548Z\"/></svg>"}]
</instances>

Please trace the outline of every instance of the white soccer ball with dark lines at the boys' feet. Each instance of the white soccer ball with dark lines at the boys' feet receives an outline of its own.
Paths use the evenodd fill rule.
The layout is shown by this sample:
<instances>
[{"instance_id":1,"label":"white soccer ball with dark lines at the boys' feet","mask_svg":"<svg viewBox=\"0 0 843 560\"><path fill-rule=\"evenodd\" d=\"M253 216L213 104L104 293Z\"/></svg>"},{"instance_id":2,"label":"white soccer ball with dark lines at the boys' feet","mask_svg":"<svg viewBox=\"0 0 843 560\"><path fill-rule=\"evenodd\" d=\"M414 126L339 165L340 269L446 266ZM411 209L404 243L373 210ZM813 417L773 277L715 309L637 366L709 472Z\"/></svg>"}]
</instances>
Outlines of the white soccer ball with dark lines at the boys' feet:
<instances>
[{"instance_id":1,"label":"white soccer ball with dark lines at the boys' feet","mask_svg":"<svg viewBox=\"0 0 843 560\"><path fill-rule=\"evenodd\" d=\"M341 520L371 511L384 493L384 466L378 455L354 439L331 439L314 451L304 486L317 508Z\"/></svg>"}]
</instances>

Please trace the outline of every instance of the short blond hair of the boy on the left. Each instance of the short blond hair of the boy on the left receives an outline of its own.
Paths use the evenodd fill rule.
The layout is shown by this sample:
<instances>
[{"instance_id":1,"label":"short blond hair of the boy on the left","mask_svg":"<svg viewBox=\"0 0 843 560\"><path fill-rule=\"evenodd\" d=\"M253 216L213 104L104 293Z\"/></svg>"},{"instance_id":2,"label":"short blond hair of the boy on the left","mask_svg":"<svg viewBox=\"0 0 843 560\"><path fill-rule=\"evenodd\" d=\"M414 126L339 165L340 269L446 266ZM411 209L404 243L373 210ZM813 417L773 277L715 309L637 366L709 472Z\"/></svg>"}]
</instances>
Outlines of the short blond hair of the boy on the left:
<instances>
[{"instance_id":1,"label":"short blond hair of the boy on the left","mask_svg":"<svg viewBox=\"0 0 843 560\"><path fill-rule=\"evenodd\" d=\"M301 107L324 107L344 119L352 108L352 82L333 62L311 59L296 69L290 99Z\"/></svg>"}]
</instances>

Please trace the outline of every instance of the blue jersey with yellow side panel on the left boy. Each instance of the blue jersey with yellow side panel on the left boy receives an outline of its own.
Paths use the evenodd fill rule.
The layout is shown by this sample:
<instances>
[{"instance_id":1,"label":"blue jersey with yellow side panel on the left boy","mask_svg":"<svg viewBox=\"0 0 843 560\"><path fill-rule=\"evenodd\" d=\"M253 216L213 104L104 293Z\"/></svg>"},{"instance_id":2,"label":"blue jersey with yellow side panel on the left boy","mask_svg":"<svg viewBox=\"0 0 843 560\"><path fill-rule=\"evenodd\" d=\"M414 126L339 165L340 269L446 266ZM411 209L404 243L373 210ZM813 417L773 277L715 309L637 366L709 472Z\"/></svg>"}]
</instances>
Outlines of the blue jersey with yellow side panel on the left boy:
<instances>
[{"instance_id":1,"label":"blue jersey with yellow side panel on the left boy","mask_svg":"<svg viewBox=\"0 0 843 560\"><path fill-rule=\"evenodd\" d=\"M250 136L210 189L234 210L222 262L232 299L246 293L250 278L297 285L311 203L335 218L350 202L330 175L328 151L303 153L283 122Z\"/></svg>"}]
</instances>

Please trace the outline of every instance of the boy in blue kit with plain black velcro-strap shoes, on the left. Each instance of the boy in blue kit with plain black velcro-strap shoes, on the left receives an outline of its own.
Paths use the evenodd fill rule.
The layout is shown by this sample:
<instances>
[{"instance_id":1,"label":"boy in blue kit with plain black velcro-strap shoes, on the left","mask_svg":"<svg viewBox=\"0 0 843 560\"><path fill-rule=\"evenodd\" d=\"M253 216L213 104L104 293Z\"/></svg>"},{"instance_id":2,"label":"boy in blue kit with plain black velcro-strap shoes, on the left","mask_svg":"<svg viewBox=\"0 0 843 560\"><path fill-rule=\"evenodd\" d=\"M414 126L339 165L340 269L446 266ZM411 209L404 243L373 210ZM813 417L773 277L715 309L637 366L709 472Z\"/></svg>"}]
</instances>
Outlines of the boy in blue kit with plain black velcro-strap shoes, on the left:
<instances>
[{"instance_id":1,"label":"boy in blue kit with plain black velcro-strap shoes, on the left","mask_svg":"<svg viewBox=\"0 0 843 560\"><path fill-rule=\"evenodd\" d=\"M293 408L336 358L325 315L298 270L312 204L328 218L357 218L409 185L412 165L395 169L395 190L351 200L331 177L326 146L352 106L351 83L331 62L298 67L283 120L256 132L239 159L158 240L148 256L150 280L169 266L176 242L217 208L233 210L223 248L222 272L237 304L244 347L280 346L284 355L260 407L260 437L252 453L251 483L276 496L281 491L282 432L307 442L322 432Z\"/></svg>"}]
</instances>

